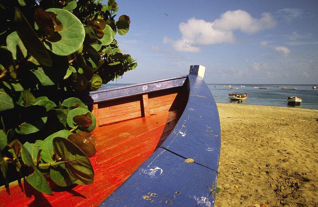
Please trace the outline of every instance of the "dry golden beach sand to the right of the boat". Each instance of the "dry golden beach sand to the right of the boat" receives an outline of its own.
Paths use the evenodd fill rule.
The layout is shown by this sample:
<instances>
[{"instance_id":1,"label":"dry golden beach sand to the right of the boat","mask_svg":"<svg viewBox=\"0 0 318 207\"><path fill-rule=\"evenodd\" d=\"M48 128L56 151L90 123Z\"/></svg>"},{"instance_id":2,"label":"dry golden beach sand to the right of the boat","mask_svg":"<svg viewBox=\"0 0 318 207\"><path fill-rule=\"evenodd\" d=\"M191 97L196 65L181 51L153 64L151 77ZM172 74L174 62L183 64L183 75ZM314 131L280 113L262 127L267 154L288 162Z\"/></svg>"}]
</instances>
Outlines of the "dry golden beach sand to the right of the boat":
<instances>
[{"instance_id":1,"label":"dry golden beach sand to the right of the boat","mask_svg":"<svg viewBox=\"0 0 318 207\"><path fill-rule=\"evenodd\" d=\"M318 206L318 112L218 103L215 206Z\"/></svg>"}]
</instances>

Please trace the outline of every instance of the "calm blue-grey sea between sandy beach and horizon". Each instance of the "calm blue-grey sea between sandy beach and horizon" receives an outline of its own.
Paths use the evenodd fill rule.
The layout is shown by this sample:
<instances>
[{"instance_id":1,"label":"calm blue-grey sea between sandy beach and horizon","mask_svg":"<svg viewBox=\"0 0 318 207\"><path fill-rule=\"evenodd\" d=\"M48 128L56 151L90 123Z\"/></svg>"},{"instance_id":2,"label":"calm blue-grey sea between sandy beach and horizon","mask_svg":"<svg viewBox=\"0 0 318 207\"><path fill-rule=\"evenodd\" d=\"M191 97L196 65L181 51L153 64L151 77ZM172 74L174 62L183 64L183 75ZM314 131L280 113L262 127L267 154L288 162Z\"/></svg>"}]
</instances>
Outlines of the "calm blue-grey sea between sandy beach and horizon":
<instances>
[{"instance_id":1,"label":"calm blue-grey sea between sandy beach and horizon","mask_svg":"<svg viewBox=\"0 0 318 207\"><path fill-rule=\"evenodd\" d=\"M127 86L131 84L106 84L107 88L115 88L121 86ZM312 85L277 85L278 87L273 87L273 84L207 84L211 93L217 103L230 103L228 98L228 93L247 93L248 98L243 100L241 104L253 104L253 105L264 105L264 106L282 106L282 107L295 107L295 108L306 108L306 109L316 109L318 110L318 89L313 89ZM239 89L229 89L229 87L224 87L231 85L232 88ZM245 87L241 87L245 85ZM216 87L214 87L216 86ZM254 88L258 86L259 88L269 88L269 89L259 89ZM297 88L296 90L281 90L281 88ZM288 106L287 97L298 96L302 99L300 106ZM233 104L237 102L233 102Z\"/></svg>"}]
</instances>

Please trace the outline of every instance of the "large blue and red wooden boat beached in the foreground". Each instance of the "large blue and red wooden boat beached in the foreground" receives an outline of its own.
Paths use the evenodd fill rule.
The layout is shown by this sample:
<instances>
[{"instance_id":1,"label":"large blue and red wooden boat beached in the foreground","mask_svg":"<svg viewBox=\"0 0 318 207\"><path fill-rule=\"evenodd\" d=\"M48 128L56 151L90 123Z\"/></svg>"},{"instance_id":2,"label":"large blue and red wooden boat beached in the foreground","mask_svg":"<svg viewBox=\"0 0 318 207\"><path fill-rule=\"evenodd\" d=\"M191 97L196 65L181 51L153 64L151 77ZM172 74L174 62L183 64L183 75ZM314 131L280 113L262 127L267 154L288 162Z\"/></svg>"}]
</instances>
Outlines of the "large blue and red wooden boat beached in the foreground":
<instances>
[{"instance_id":1,"label":"large blue and red wooden boat beached in the foreground","mask_svg":"<svg viewBox=\"0 0 318 207\"><path fill-rule=\"evenodd\" d=\"M204 69L82 95L96 117L94 183L49 181L47 195L22 179L0 188L0 206L213 206L221 134Z\"/></svg>"}]
</instances>

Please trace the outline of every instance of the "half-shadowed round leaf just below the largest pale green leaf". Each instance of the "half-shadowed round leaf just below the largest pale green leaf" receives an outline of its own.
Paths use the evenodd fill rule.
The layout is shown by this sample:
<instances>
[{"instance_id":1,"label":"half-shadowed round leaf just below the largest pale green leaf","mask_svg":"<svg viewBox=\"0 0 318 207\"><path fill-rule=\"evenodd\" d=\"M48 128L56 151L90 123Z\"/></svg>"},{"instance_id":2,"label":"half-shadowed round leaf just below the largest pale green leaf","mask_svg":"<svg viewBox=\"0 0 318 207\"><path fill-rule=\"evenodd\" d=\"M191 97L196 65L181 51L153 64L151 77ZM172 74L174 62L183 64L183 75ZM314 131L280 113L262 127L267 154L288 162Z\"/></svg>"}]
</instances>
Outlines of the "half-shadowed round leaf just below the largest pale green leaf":
<instances>
[{"instance_id":1,"label":"half-shadowed round leaf just below the largest pale green leaf","mask_svg":"<svg viewBox=\"0 0 318 207\"><path fill-rule=\"evenodd\" d=\"M41 85L54 85L63 80L68 68L68 58L67 56L51 54L53 60L52 67L37 66L32 63L29 64L31 69L27 71L27 75L32 82Z\"/></svg>"}]
</instances>

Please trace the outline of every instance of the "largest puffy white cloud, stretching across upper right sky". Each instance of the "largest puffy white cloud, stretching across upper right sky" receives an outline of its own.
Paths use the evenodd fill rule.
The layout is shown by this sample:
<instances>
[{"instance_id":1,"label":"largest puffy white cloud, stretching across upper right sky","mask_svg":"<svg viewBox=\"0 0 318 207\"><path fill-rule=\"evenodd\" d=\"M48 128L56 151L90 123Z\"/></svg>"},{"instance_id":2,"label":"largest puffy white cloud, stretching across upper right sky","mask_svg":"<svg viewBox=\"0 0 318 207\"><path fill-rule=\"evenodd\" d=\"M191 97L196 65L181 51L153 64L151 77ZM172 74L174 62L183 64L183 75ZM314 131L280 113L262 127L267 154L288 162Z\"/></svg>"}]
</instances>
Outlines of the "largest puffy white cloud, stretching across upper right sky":
<instances>
[{"instance_id":1,"label":"largest puffy white cloud, stretching across upper right sky","mask_svg":"<svg viewBox=\"0 0 318 207\"><path fill-rule=\"evenodd\" d=\"M254 34L260 30L270 29L276 21L270 13L264 12L261 18L253 18L243 10L227 11L214 22L203 19L190 18L179 24L182 37L172 40L163 38L163 43L169 43L176 51L201 52L201 46L216 43L233 43L236 41L233 31L241 30L247 34Z\"/></svg>"}]
</instances>

